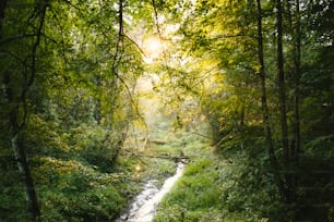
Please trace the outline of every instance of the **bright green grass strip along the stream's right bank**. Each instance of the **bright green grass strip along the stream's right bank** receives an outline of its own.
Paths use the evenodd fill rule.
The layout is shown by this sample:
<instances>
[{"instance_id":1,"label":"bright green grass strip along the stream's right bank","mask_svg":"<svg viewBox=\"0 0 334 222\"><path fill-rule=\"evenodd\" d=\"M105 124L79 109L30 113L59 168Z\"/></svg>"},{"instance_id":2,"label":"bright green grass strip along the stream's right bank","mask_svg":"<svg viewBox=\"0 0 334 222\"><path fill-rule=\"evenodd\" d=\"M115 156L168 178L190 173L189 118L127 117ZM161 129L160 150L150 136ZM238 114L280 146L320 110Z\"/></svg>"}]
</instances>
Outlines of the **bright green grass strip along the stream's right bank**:
<instances>
[{"instance_id":1,"label":"bright green grass strip along the stream's right bank","mask_svg":"<svg viewBox=\"0 0 334 222\"><path fill-rule=\"evenodd\" d=\"M191 161L158 205L154 222L267 221L248 209L252 200L240 196L238 187L242 187L243 178L239 180L237 164L213 153L211 141L205 138L184 133L179 139L187 141L183 151Z\"/></svg>"}]
</instances>

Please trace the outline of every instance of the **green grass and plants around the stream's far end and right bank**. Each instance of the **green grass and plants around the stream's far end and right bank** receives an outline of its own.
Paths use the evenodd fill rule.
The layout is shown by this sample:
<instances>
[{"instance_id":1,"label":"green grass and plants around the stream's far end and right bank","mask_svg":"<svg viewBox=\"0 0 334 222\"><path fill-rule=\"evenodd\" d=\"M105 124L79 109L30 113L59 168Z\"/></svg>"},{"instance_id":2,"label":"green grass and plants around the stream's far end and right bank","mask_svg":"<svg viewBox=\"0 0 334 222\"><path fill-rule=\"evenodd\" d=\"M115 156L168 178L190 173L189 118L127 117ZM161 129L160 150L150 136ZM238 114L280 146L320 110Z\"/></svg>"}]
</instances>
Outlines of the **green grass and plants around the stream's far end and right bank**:
<instances>
[{"instance_id":1,"label":"green grass and plants around the stream's far end and right bank","mask_svg":"<svg viewBox=\"0 0 334 222\"><path fill-rule=\"evenodd\" d=\"M203 136L177 132L166 139L163 134L158 138L164 139L156 139L143 153L183 153L190 161L182 177L158 205L154 222L267 221L266 207L274 206L269 203L273 202L269 192L273 189L259 181L262 172L253 171L255 168L243 162L247 161L244 153L227 161L214 153L212 141ZM158 180L158 186L176 171L175 162L159 158L141 157L139 164L142 165L141 182Z\"/></svg>"}]
</instances>

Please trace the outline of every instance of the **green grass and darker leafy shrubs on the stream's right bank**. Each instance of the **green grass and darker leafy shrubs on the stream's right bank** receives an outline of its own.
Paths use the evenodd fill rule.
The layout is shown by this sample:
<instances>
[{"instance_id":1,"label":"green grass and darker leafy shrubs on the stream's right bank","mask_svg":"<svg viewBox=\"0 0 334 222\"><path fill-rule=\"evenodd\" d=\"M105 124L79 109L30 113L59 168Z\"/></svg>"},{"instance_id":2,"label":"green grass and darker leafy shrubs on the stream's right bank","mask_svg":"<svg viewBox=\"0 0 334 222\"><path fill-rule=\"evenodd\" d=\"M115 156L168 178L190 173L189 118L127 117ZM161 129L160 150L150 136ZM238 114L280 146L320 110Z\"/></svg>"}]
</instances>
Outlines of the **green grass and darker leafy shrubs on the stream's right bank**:
<instances>
[{"instance_id":1,"label":"green grass and darker leafy shrubs on the stream's right bank","mask_svg":"<svg viewBox=\"0 0 334 222\"><path fill-rule=\"evenodd\" d=\"M158 206L154 221L266 221L274 217L279 196L265 156L259 152L258 159L250 159L239 151L223 159L206 148L207 141L184 137L194 140L189 146L198 147L188 149L192 161Z\"/></svg>"}]
</instances>

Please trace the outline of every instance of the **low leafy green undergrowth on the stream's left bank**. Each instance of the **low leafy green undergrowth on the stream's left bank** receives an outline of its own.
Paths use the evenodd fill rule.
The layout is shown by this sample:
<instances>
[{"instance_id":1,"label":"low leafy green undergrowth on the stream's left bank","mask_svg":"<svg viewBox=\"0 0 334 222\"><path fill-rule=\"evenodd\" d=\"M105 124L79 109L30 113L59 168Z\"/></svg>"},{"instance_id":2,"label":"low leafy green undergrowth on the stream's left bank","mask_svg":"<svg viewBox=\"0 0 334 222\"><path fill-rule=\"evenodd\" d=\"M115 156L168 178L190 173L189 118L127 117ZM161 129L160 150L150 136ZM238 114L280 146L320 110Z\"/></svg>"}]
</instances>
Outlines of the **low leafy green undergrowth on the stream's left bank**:
<instances>
[{"instance_id":1,"label":"low leafy green undergrowth on the stream's left bank","mask_svg":"<svg viewBox=\"0 0 334 222\"><path fill-rule=\"evenodd\" d=\"M55 158L40 158L36 164L44 220L111 220L126 202L123 195L129 190L119 187L124 183L122 174L104 174L80 162Z\"/></svg>"}]
</instances>

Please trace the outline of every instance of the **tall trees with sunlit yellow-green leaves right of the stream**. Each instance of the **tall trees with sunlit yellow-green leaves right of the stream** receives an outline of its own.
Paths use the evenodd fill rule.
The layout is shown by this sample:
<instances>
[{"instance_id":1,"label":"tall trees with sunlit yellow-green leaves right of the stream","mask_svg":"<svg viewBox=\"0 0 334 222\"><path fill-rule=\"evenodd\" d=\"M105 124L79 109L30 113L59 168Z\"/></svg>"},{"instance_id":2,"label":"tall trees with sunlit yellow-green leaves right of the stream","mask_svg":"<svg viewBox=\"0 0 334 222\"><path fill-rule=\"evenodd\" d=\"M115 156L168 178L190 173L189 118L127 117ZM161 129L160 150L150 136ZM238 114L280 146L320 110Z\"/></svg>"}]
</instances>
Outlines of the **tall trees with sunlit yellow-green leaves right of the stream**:
<instances>
[{"instance_id":1,"label":"tall trees with sunlit yellow-green leaves right of the stream","mask_svg":"<svg viewBox=\"0 0 334 222\"><path fill-rule=\"evenodd\" d=\"M192 63L206 61L216 65L222 75L215 78L219 88L205 87L201 94L202 111L213 123L217 149L225 156L235 150L235 156L226 157L246 152L244 161L257 164L263 158L263 151L254 147L262 146L260 138L265 138L267 159L262 161L270 163L266 170L275 178L273 182L285 206L282 210L289 212L279 220L305 219L302 212L307 210L301 206L306 197L301 193L306 192L309 180L302 175L301 169L306 165L319 168L311 156L321 152L309 150L306 155L307 147L332 135L329 122L333 112L325 102L332 98L332 65L324 58L324 54L332 58L332 22L324 17L332 17L332 1L183 1L177 9L172 1L167 1L166 8L180 23L177 34L182 41L178 47L187 51L182 55L191 57L191 62L184 60L182 64L190 67ZM312 61L317 61L317 65ZM207 67L203 64L194 73L183 69L182 76L192 79L201 76L201 70ZM322 75L318 75L319 70L323 71ZM180 79L177 74L174 76ZM259 76L260 82L254 76ZM177 83L175 87L184 86L182 81ZM257 115L260 102L262 120ZM315 103L326 108L320 111ZM312 115L319 118L312 121ZM327 123L320 118L324 115ZM261 126L264 134L259 131ZM323 157L329 156L329 152L323 153ZM326 164L326 168L331 166Z\"/></svg>"}]
</instances>

